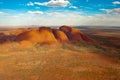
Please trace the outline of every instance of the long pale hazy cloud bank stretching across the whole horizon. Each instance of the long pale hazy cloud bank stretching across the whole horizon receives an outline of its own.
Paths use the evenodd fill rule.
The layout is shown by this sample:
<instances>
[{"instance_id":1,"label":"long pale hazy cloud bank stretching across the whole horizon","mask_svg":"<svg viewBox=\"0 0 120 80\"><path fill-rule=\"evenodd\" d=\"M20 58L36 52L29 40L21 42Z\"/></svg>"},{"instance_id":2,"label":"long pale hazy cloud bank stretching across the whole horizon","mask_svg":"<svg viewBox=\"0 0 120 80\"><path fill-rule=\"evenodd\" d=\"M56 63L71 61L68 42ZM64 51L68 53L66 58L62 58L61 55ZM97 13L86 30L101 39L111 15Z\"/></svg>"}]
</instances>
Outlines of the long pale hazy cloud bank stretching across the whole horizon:
<instances>
[{"instance_id":1,"label":"long pale hazy cloud bank stretching across the whole horizon","mask_svg":"<svg viewBox=\"0 0 120 80\"><path fill-rule=\"evenodd\" d=\"M44 26L119 26L120 14L97 14L84 16L77 11L46 11L42 15L41 11L27 11L22 14L0 15L0 25L2 26L23 26L23 25L44 25Z\"/></svg>"}]
</instances>

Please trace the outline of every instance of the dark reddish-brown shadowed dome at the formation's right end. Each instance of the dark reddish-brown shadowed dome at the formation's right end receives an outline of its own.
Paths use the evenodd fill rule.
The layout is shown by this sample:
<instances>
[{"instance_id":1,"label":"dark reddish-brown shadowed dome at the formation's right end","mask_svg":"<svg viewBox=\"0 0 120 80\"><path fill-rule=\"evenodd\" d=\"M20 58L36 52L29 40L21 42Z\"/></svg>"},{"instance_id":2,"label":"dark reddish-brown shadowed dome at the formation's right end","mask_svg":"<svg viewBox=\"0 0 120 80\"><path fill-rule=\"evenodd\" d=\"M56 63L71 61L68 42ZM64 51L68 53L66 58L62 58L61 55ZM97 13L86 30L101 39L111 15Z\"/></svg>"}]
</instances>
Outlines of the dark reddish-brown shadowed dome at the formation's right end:
<instances>
[{"instance_id":1,"label":"dark reddish-brown shadowed dome at the formation's right end","mask_svg":"<svg viewBox=\"0 0 120 80\"><path fill-rule=\"evenodd\" d=\"M70 41L73 42L94 42L93 39L85 35L83 32L81 32L79 29L70 27L70 26L61 26L59 28L61 31L63 31L69 38Z\"/></svg>"}]
</instances>

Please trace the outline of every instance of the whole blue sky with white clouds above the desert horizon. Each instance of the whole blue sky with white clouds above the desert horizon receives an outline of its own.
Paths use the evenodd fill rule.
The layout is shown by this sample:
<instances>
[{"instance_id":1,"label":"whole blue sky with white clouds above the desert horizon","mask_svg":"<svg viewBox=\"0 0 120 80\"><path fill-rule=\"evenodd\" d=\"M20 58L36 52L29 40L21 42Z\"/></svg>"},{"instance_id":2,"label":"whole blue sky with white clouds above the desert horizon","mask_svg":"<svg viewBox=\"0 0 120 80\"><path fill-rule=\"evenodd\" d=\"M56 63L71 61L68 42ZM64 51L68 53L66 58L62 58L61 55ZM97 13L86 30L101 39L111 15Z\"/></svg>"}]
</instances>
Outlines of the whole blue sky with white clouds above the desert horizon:
<instances>
[{"instance_id":1,"label":"whole blue sky with white clouds above the desert horizon","mask_svg":"<svg viewBox=\"0 0 120 80\"><path fill-rule=\"evenodd\" d=\"M120 26L120 0L0 0L0 26Z\"/></svg>"}]
</instances>

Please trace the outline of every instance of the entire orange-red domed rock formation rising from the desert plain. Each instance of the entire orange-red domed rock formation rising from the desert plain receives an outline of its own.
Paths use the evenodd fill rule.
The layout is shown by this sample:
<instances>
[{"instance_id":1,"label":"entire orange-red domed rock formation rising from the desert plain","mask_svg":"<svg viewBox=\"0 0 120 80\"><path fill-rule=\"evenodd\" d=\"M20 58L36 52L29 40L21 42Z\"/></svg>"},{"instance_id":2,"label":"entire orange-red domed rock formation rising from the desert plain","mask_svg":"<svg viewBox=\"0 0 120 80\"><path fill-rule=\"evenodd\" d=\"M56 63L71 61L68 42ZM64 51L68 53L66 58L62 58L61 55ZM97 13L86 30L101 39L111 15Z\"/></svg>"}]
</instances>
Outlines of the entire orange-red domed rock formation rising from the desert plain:
<instances>
[{"instance_id":1,"label":"entire orange-red domed rock formation rising from the desert plain","mask_svg":"<svg viewBox=\"0 0 120 80\"><path fill-rule=\"evenodd\" d=\"M23 28L8 31L7 33L0 35L0 42L15 41L23 45L58 45L70 42L95 42L95 40L85 35L79 29L71 26L61 26L59 29L46 26L39 28Z\"/></svg>"}]
</instances>

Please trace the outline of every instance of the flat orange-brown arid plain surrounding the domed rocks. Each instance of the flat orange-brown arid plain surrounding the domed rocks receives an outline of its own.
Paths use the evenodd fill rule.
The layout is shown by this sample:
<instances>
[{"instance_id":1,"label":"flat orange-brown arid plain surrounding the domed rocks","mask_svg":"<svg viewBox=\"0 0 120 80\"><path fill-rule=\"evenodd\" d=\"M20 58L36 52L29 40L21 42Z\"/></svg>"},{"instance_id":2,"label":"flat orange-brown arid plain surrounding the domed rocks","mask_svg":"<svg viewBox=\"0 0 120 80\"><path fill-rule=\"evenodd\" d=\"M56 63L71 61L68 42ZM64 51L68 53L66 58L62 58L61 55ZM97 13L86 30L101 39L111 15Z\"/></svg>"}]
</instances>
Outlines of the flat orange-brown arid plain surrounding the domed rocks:
<instances>
[{"instance_id":1,"label":"flat orange-brown arid plain surrounding the domed rocks","mask_svg":"<svg viewBox=\"0 0 120 80\"><path fill-rule=\"evenodd\" d=\"M0 80L120 80L120 28L80 29L98 44L0 44Z\"/></svg>"}]
</instances>

